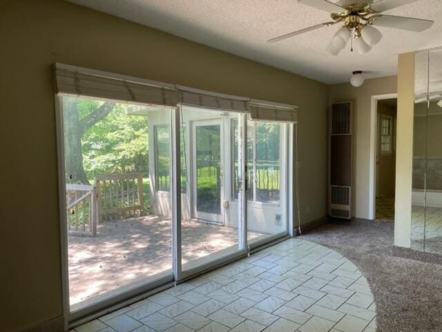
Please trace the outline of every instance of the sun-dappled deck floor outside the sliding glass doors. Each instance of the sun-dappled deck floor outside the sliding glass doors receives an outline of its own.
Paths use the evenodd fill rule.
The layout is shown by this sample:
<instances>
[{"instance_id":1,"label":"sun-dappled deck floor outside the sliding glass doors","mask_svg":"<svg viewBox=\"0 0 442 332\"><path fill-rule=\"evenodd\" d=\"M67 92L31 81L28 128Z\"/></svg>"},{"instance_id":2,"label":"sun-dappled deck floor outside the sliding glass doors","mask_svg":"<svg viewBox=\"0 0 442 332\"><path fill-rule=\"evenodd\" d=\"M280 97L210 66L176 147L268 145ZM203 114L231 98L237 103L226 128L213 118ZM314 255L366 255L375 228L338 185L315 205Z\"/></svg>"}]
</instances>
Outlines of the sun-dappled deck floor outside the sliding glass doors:
<instances>
[{"instance_id":1,"label":"sun-dappled deck floor outside the sliding glass doors","mask_svg":"<svg viewBox=\"0 0 442 332\"><path fill-rule=\"evenodd\" d=\"M257 237L265 234L249 233L249 239ZM236 228L182 221L183 264L237 243ZM70 305L75 309L171 273L171 221L148 215L100 223L95 237L69 237L68 256Z\"/></svg>"}]
</instances>

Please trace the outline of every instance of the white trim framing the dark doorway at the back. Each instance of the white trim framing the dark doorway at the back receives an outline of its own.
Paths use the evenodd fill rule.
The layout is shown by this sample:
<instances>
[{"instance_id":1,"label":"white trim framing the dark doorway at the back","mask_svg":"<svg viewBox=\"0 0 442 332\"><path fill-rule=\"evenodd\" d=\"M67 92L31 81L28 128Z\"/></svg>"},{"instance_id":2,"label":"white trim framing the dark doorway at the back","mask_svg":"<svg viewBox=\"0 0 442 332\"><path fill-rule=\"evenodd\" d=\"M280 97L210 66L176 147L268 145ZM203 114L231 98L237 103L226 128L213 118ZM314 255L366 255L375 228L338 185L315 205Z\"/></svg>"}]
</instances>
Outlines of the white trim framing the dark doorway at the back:
<instances>
[{"instance_id":1,"label":"white trim framing the dark doorway at the back","mask_svg":"<svg viewBox=\"0 0 442 332\"><path fill-rule=\"evenodd\" d=\"M378 100L398 98L398 94L384 93L381 95L372 95L372 107L370 113L370 166L369 166L369 210L368 219L376 219L376 142L378 127Z\"/></svg>"}]
</instances>

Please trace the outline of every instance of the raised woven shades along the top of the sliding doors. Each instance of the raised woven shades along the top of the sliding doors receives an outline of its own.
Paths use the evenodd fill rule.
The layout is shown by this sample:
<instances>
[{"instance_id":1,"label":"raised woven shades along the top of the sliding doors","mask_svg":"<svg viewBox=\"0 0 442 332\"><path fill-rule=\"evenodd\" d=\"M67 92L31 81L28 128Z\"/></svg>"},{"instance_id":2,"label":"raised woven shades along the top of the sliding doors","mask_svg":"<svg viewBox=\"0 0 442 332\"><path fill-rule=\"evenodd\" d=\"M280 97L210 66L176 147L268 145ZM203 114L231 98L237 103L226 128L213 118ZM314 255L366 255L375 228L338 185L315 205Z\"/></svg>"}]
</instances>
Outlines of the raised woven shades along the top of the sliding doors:
<instances>
[{"instance_id":1,"label":"raised woven shades along the top of the sliding doors","mask_svg":"<svg viewBox=\"0 0 442 332\"><path fill-rule=\"evenodd\" d=\"M297 107L276 102L212 93L198 89L142 80L135 77L55 64L55 92L104 98L135 104L220 109L249 113L251 120L297 122Z\"/></svg>"}]
</instances>

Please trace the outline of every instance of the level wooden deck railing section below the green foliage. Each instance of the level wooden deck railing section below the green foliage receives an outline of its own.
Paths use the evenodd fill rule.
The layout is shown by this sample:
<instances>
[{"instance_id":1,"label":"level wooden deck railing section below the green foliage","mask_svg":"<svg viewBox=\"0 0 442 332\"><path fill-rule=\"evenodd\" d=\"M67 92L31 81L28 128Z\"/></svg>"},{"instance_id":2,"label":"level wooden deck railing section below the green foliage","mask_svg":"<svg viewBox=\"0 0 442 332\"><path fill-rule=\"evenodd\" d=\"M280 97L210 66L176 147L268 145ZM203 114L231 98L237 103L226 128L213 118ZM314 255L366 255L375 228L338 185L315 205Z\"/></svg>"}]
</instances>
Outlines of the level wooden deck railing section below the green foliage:
<instances>
[{"instance_id":1,"label":"level wooden deck railing section below the green foliage","mask_svg":"<svg viewBox=\"0 0 442 332\"><path fill-rule=\"evenodd\" d=\"M144 213L143 174L104 174L95 177L99 221Z\"/></svg>"}]
</instances>

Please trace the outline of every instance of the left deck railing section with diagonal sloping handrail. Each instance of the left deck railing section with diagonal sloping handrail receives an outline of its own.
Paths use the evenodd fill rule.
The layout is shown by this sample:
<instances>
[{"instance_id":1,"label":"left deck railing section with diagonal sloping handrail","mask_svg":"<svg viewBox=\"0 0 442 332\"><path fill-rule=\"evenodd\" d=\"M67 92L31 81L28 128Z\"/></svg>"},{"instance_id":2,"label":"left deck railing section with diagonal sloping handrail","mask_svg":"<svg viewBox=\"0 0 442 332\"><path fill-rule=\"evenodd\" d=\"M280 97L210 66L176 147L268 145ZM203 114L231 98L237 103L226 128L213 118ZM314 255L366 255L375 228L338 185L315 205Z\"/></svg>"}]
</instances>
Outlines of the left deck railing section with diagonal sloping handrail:
<instances>
[{"instance_id":1,"label":"left deck railing section with diagonal sloping handrail","mask_svg":"<svg viewBox=\"0 0 442 332\"><path fill-rule=\"evenodd\" d=\"M94 185L66 184L68 234L95 237L97 234L97 191Z\"/></svg>"}]
</instances>

